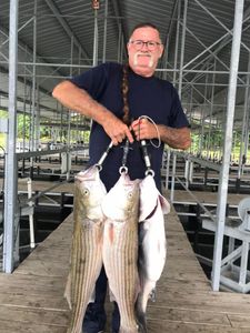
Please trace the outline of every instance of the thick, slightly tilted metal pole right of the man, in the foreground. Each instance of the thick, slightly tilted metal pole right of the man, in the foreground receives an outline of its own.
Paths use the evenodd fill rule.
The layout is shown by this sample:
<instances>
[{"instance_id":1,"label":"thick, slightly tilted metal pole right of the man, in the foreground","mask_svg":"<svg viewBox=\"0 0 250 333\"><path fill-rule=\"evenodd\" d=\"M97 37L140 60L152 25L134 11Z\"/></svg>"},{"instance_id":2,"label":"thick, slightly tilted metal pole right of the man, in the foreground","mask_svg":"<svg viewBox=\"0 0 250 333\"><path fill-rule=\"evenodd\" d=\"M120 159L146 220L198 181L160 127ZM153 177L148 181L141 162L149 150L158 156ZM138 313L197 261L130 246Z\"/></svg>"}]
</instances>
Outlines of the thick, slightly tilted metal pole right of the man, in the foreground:
<instances>
[{"instance_id":1,"label":"thick, slightly tilted metal pole right of the man, in the foreground","mask_svg":"<svg viewBox=\"0 0 250 333\"><path fill-rule=\"evenodd\" d=\"M237 75L238 75L238 68L239 68L240 42L241 42L241 31L242 31L243 4L244 4L244 0L236 1L233 38L232 38L232 48L231 48L231 65L230 65L231 71L230 71L230 80L229 80L230 85L229 85L228 100L227 100L228 114L227 114L226 133L224 133L223 160L222 160L222 167L220 171L218 209L217 209L218 223L216 230L212 276L211 276L213 291L219 291L219 286L220 286L221 256L222 256L224 218L226 218L226 206L227 206L227 196L228 196L229 164L230 164L230 154L232 148L232 129L233 129Z\"/></svg>"}]
</instances>

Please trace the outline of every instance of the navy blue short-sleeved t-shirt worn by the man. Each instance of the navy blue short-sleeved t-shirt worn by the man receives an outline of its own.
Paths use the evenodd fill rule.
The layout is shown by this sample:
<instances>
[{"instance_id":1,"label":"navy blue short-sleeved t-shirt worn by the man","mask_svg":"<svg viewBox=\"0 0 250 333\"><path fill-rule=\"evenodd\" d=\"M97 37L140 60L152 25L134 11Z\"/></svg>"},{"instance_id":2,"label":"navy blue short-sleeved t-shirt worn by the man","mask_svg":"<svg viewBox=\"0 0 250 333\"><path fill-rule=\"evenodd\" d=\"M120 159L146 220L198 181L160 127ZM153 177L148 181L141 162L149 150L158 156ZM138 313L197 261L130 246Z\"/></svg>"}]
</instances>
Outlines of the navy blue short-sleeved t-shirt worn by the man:
<instances>
[{"instance_id":1,"label":"navy blue short-sleeved t-shirt worn by the man","mask_svg":"<svg viewBox=\"0 0 250 333\"><path fill-rule=\"evenodd\" d=\"M122 65L119 63L103 63L71 79L71 82L84 89L94 100L113 112L118 118L123 115L123 100L121 92ZM178 93L173 85L156 77L143 78L129 70L128 75L129 114L131 120L140 115L150 117L157 124L171 128L188 127L188 120L181 108ZM157 144L156 140L156 144ZM103 128L93 121L90 133L90 161L97 163L110 143L110 138ZM149 143L149 142L148 142ZM162 162L163 143L160 148L148 144L154 180L160 190L160 169ZM130 178L143 179L146 164L139 142L130 144L127 167ZM107 190L114 185L120 176L119 168L122 164L122 144L113 147L102 164L101 179Z\"/></svg>"}]
</instances>

